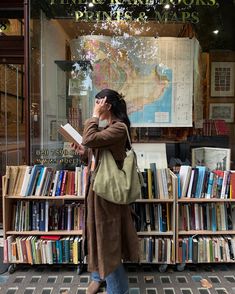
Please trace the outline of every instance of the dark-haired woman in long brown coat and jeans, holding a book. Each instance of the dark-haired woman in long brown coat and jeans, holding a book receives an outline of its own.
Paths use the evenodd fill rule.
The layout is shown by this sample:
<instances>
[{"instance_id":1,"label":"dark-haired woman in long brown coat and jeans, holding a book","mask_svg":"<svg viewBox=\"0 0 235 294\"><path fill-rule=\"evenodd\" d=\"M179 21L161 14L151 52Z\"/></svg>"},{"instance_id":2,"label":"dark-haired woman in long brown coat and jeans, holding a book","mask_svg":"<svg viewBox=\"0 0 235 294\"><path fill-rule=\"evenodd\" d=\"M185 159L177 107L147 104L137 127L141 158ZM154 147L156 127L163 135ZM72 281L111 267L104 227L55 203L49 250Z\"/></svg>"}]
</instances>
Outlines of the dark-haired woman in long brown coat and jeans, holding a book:
<instances>
[{"instance_id":1,"label":"dark-haired woman in long brown coat and jeans, holding a book","mask_svg":"<svg viewBox=\"0 0 235 294\"><path fill-rule=\"evenodd\" d=\"M110 150L117 166L122 168L126 149L130 148L123 125L125 123L130 131L130 121L122 95L104 89L95 98L92 118L85 122L83 143L76 146L83 159L88 158L90 175L102 149ZM107 120L108 126L100 130L99 120ZM98 293L102 280L105 280L108 294L126 294L128 279L122 260L137 262L139 259L131 210L128 205L114 204L96 195L90 179L86 193L85 247L92 281L87 293Z\"/></svg>"}]
</instances>

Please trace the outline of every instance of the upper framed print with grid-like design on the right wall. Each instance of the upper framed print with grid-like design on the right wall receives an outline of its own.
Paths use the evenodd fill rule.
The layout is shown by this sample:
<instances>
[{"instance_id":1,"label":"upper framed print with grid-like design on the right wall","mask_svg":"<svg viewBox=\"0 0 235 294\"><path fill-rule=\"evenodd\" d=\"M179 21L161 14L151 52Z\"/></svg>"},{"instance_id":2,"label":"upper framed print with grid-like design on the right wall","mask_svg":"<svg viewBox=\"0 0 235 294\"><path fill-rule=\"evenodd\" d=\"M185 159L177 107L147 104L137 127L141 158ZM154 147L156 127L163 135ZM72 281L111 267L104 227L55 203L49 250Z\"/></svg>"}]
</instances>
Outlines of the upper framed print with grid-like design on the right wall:
<instances>
[{"instance_id":1,"label":"upper framed print with grid-like design on the right wall","mask_svg":"<svg viewBox=\"0 0 235 294\"><path fill-rule=\"evenodd\" d=\"M234 96L234 66L235 62L211 63L211 96Z\"/></svg>"}]
</instances>

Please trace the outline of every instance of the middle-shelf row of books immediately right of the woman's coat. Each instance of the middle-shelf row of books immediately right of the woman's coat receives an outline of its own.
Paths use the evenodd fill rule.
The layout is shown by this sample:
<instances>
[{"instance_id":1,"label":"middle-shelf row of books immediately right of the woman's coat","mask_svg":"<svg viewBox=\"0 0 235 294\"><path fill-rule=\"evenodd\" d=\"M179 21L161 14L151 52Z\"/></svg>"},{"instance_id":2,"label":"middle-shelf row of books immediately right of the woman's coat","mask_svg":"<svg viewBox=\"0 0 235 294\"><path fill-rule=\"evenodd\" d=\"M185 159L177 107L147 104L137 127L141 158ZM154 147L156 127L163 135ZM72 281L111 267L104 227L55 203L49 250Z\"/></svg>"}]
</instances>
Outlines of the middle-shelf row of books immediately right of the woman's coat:
<instances>
[{"instance_id":1,"label":"middle-shelf row of books immediately right of the woman's coat","mask_svg":"<svg viewBox=\"0 0 235 294\"><path fill-rule=\"evenodd\" d=\"M134 220L137 232L157 231L167 232L172 230L172 205L169 203L140 204L134 203L136 215Z\"/></svg>"}]
</instances>

